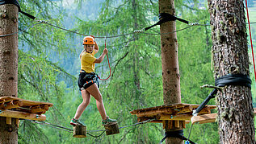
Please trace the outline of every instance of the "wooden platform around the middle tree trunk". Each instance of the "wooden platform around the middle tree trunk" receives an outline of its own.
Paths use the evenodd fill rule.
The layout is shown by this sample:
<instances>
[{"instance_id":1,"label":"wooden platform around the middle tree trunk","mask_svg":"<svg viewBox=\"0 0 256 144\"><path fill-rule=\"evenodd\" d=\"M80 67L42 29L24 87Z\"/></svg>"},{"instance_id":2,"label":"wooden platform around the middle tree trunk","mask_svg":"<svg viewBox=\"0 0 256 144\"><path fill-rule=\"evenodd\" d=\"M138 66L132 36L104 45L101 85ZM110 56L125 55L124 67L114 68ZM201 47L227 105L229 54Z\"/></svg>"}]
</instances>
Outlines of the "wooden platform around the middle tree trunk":
<instances>
[{"instance_id":1,"label":"wooden platform around the middle tree trunk","mask_svg":"<svg viewBox=\"0 0 256 144\"><path fill-rule=\"evenodd\" d=\"M191 121L193 110L198 108L199 105L191 104L173 104L161 105L145 109L136 109L131 111L132 115L138 117L138 121L146 121L149 119L156 119L156 123L163 123L166 129L185 128L185 124ZM198 115L209 114L211 109L216 109L216 105L206 105Z\"/></svg>"}]
</instances>

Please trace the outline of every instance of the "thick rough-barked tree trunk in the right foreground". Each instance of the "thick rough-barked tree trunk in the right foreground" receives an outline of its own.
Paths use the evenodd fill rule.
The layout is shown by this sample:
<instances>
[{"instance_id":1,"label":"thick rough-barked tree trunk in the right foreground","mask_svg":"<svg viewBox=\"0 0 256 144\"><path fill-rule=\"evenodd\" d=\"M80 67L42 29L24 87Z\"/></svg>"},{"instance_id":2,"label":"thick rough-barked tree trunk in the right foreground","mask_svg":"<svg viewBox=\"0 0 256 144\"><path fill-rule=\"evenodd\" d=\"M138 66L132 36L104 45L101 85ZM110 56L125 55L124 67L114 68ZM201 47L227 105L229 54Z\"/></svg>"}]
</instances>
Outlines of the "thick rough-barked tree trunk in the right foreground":
<instances>
[{"instance_id":1,"label":"thick rough-barked tree trunk in the right foreground","mask_svg":"<svg viewBox=\"0 0 256 144\"><path fill-rule=\"evenodd\" d=\"M249 75L245 11L242 0L208 0L215 78ZM229 85L217 93L220 143L255 143L251 90Z\"/></svg>"}]
</instances>

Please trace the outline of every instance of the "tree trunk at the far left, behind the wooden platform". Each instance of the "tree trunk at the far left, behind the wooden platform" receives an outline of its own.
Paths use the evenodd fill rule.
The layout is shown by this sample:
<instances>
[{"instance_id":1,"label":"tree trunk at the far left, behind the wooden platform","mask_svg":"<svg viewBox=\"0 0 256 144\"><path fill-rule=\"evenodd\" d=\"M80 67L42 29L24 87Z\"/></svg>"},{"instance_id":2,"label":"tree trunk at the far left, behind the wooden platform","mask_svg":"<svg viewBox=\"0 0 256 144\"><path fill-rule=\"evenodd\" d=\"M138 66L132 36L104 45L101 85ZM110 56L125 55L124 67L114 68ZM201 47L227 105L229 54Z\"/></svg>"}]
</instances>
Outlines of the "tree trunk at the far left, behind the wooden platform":
<instances>
[{"instance_id":1,"label":"tree trunk at the far left, behind the wooden platform","mask_svg":"<svg viewBox=\"0 0 256 144\"><path fill-rule=\"evenodd\" d=\"M18 31L18 7L0 6L0 35ZM18 34L0 37L0 97L18 95ZM6 117L0 117L0 143L18 143L18 128L6 125Z\"/></svg>"}]
</instances>

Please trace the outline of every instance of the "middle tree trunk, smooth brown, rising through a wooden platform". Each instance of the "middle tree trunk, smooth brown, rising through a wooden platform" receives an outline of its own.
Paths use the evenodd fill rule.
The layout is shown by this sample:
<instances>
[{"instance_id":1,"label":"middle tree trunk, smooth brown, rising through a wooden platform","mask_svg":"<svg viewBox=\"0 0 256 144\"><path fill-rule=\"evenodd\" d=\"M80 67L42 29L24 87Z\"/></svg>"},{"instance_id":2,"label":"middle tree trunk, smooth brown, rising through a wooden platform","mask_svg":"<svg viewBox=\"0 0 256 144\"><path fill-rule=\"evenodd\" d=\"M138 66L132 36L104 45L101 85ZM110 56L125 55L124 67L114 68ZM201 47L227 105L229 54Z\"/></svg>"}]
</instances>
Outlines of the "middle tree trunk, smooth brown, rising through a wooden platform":
<instances>
[{"instance_id":1,"label":"middle tree trunk, smooth brown, rising through a wooden platform","mask_svg":"<svg viewBox=\"0 0 256 144\"><path fill-rule=\"evenodd\" d=\"M169 13L175 14L174 0L159 0L159 14ZM176 31L175 21L162 23L160 25L161 33ZM178 42L176 33L161 35L161 51L162 51L162 84L164 105L170 105L181 102L180 95L180 79L178 69ZM181 128L182 129L182 128ZM175 129L175 130L181 130ZM174 131L174 130L166 130ZM166 143L179 144L183 140L179 138L167 138Z\"/></svg>"}]
</instances>

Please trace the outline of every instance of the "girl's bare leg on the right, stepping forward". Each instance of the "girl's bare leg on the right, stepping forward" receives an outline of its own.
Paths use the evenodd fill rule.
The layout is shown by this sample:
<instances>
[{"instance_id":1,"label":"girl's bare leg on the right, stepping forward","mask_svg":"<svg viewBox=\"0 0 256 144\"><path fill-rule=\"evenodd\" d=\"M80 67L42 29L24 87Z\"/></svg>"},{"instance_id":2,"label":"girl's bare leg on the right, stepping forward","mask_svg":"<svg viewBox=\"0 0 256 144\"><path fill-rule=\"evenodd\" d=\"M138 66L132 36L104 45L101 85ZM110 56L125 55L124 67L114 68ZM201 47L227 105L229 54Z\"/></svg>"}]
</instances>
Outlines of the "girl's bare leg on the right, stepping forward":
<instances>
[{"instance_id":1,"label":"girl's bare leg on the right, stepping forward","mask_svg":"<svg viewBox=\"0 0 256 144\"><path fill-rule=\"evenodd\" d=\"M96 84L92 84L89 88L86 88L86 91L88 91L96 100L96 105L99 110L99 113L103 120L107 119L107 113L104 108L103 104L103 97L101 93L99 92L99 88L97 87Z\"/></svg>"}]
</instances>

